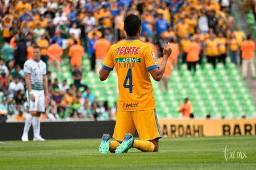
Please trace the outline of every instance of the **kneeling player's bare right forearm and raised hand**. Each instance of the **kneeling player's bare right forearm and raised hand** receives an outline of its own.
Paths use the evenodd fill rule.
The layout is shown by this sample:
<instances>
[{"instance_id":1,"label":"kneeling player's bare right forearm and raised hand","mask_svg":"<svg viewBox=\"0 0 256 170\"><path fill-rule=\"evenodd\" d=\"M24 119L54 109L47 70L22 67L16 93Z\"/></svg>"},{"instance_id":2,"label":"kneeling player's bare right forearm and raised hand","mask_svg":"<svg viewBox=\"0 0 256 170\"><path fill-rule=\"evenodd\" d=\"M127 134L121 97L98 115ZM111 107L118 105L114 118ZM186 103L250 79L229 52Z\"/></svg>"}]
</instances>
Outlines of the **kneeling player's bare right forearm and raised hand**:
<instances>
[{"instance_id":1,"label":"kneeling player's bare right forearm and raised hand","mask_svg":"<svg viewBox=\"0 0 256 170\"><path fill-rule=\"evenodd\" d=\"M168 61L169 56L171 55L171 46L168 42L168 44L165 44L164 49L163 49L163 61L161 62L159 68L153 68L152 70L150 70L150 74L153 77L153 79L155 79L155 81L160 81L160 79L163 76L165 67L166 67L166 63Z\"/></svg>"}]
</instances>

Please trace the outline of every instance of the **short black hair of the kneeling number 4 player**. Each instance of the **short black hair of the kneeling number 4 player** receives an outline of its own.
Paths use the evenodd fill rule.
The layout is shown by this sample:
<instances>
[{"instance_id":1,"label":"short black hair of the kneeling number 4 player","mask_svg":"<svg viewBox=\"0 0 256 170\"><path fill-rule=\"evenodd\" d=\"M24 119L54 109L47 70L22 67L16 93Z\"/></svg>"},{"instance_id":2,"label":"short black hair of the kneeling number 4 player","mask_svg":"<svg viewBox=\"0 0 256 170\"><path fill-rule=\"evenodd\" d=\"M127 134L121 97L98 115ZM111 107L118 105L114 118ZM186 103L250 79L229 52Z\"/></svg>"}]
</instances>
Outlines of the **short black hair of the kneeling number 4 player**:
<instances>
[{"instance_id":1,"label":"short black hair of the kneeling number 4 player","mask_svg":"<svg viewBox=\"0 0 256 170\"><path fill-rule=\"evenodd\" d=\"M127 36L135 36L138 33L142 21L140 17L134 14L130 14L124 20L124 30L126 31Z\"/></svg>"}]
</instances>

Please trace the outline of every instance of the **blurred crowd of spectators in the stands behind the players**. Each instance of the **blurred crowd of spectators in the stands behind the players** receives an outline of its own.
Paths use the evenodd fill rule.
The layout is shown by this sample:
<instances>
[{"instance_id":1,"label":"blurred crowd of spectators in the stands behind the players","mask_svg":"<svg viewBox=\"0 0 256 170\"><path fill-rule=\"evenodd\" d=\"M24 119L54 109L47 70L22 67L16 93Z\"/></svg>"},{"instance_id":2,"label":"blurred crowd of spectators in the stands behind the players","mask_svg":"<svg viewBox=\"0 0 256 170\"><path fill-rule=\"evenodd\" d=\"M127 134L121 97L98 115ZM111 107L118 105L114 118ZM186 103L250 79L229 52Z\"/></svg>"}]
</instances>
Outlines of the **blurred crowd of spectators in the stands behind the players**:
<instances>
[{"instance_id":1,"label":"blurred crowd of spectators in the stands behind the players","mask_svg":"<svg viewBox=\"0 0 256 170\"><path fill-rule=\"evenodd\" d=\"M162 56L166 41L176 44L170 57L173 69L179 70L181 63L191 62L187 61L186 55L192 40L200 44L199 59L193 61L197 65L203 66L206 62L213 67L218 62L225 64L229 55L231 62L241 64L239 47L245 34L231 15L232 3L229 0L2 0L1 114L7 114L9 121L23 120L28 114L23 63L33 57L33 45L38 44L42 48L41 59L48 63L51 94L51 102L41 120L114 119L116 107L109 107L107 101L99 102L92 94L90 84L69 84L65 78L52 79L51 73L57 67L61 76L59 67L70 57L90 59L91 68L87 71L95 71L95 60L105 57L97 55L95 42L105 38L113 44L124 39L123 20L129 14L142 18L140 39L153 46L157 57ZM52 44L61 47L59 57L51 57L48 49ZM73 56L71 48L79 44L84 52L80 52L81 56ZM71 62L74 81L87 76L82 75L85 72L80 65L80 62Z\"/></svg>"}]
</instances>

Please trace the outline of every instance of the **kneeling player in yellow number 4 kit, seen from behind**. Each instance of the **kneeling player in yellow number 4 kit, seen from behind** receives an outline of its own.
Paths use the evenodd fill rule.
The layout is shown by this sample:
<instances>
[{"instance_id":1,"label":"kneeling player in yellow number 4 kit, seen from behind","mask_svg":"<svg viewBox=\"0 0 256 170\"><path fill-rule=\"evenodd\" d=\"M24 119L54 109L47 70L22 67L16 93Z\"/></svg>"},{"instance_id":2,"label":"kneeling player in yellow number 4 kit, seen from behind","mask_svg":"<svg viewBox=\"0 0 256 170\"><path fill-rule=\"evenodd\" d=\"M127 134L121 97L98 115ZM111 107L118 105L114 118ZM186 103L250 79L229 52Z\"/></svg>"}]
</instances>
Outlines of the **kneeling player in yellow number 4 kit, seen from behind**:
<instances>
[{"instance_id":1,"label":"kneeling player in yellow number 4 kit, seen from behind","mask_svg":"<svg viewBox=\"0 0 256 170\"><path fill-rule=\"evenodd\" d=\"M139 40L142 30L140 18L134 14L127 16L124 30L127 39L111 46L100 70L100 79L104 81L116 68L119 98L113 134L116 141L110 141L109 134L103 134L99 151L124 153L134 147L142 152L158 152L161 131L150 74L155 81L160 81L171 55L171 46L165 45L163 61L158 66L152 47ZM140 140L134 140L135 129Z\"/></svg>"}]
</instances>

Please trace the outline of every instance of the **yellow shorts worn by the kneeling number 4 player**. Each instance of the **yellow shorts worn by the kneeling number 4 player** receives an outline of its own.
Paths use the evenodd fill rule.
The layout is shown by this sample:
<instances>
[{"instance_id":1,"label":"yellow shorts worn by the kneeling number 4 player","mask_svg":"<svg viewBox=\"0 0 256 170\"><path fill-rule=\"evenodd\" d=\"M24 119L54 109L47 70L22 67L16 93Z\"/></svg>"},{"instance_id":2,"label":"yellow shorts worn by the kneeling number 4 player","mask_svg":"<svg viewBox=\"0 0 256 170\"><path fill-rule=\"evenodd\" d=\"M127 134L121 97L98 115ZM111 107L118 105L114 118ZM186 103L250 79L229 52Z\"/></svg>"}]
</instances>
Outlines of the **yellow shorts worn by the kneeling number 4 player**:
<instances>
[{"instance_id":1,"label":"yellow shorts worn by the kneeling number 4 player","mask_svg":"<svg viewBox=\"0 0 256 170\"><path fill-rule=\"evenodd\" d=\"M121 142L126 133L134 136L135 129L137 129L140 140L161 138L156 110L117 111L113 138Z\"/></svg>"}]
</instances>

